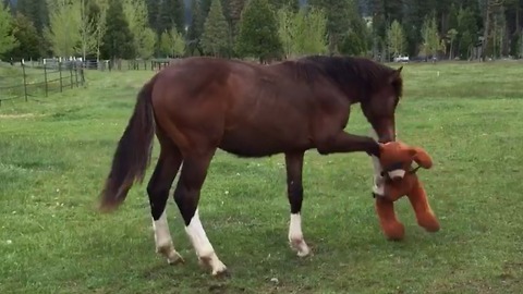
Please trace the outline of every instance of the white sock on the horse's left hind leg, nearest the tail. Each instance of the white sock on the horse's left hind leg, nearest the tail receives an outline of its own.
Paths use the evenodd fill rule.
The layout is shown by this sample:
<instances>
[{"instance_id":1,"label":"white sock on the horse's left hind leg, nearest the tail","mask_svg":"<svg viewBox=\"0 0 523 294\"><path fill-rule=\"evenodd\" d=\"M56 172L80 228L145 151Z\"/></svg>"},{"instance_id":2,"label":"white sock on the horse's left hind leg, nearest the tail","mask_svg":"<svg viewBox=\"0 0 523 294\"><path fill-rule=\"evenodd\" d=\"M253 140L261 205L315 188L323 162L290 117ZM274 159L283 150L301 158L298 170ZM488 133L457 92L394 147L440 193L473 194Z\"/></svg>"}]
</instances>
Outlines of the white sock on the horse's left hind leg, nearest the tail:
<instances>
[{"instance_id":1,"label":"white sock on the horse's left hind leg, nearest the tail","mask_svg":"<svg viewBox=\"0 0 523 294\"><path fill-rule=\"evenodd\" d=\"M167 261L171 265L183 262L183 258L177 253L174 245L172 244L171 232L169 231L169 224L167 223L166 210L163 210L157 221L153 219L153 229L155 230L156 252L165 255Z\"/></svg>"}]
</instances>

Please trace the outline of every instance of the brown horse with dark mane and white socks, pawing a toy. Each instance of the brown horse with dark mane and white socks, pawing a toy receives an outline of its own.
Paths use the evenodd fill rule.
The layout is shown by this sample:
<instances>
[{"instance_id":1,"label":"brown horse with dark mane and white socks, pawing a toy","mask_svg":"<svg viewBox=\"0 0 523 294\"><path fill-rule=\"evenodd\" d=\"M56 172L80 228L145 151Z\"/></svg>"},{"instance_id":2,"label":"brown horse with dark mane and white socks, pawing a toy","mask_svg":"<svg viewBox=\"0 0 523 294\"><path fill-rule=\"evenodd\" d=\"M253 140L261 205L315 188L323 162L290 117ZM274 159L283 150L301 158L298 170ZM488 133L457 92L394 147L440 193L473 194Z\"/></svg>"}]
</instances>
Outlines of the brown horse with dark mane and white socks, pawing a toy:
<instances>
[{"instance_id":1,"label":"brown horse with dark mane and white socks, pawing a toy","mask_svg":"<svg viewBox=\"0 0 523 294\"><path fill-rule=\"evenodd\" d=\"M401 69L348 57L306 57L271 65L187 58L157 73L141 89L101 193L110 211L142 182L156 132L157 166L147 186L156 249L170 264L183 262L169 232L166 204L181 168L174 200L200 262L226 272L198 216L198 200L215 151L239 157L284 154L290 203L289 241L299 256L309 248L301 228L304 154L365 151L379 158L379 143L344 132L350 108L361 103L379 142L396 139L394 112ZM375 171L377 172L377 171Z\"/></svg>"}]
</instances>

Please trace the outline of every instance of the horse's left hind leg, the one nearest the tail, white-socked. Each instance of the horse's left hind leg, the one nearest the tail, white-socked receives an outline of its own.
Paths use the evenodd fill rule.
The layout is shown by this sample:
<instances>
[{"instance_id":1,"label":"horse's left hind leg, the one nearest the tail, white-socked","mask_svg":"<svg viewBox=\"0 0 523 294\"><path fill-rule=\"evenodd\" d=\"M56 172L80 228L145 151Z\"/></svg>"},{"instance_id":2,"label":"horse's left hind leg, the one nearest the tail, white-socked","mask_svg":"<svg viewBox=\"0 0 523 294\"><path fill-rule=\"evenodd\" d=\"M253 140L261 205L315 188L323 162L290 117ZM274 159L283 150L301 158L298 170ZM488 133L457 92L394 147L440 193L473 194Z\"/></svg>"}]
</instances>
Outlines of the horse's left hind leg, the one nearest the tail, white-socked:
<instances>
[{"instance_id":1,"label":"horse's left hind leg, the one nearest the tail, white-socked","mask_svg":"<svg viewBox=\"0 0 523 294\"><path fill-rule=\"evenodd\" d=\"M155 230L156 252L167 257L171 265L183 262L183 258L174 249L171 233L167 222L167 199L169 189L177 176L182 156L177 146L170 140L158 136L161 145L157 166L147 185L150 213L153 215L153 229Z\"/></svg>"}]
</instances>

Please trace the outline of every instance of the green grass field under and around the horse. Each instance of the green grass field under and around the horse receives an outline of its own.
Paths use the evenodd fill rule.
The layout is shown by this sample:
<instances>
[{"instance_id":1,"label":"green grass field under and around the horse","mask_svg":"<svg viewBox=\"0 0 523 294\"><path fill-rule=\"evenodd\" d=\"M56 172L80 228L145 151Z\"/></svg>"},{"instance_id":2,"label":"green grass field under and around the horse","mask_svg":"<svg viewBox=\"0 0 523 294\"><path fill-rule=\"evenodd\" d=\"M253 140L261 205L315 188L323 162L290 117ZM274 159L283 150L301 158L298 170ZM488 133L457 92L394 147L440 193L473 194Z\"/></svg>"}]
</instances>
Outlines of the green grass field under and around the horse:
<instances>
[{"instance_id":1,"label":"green grass field under and around the horse","mask_svg":"<svg viewBox=\"0 0 523 294\"><path fill-rule=\"evenodd\" d=\"M169 224L183 266L155 253L145 185L117 212L96 210L138 87L151 75L87 72L85 88L2 103L0 293L523 292L522 63L404 65L398 135L434 158L419 175L441 223L435 234L416 225L402 199L406 237L386 241L370 159L309 151L303 230L314 255L300 259L287 241L283 157L219 152L200 216L230 278L199 268L172 197ZM368 133L358 106L348 130Z\"/></svg>"}]
</instances>

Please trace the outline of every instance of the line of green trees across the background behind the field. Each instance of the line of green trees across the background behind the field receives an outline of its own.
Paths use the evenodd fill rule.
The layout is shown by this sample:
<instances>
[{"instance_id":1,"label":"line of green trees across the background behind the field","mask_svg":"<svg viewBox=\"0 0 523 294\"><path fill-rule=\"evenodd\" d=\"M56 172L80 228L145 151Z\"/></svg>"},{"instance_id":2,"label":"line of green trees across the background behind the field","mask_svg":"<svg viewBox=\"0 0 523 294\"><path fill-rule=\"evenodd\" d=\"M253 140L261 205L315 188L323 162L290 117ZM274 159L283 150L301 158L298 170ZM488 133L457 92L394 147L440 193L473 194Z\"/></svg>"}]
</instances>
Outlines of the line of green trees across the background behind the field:
<instances>
[{"instance_id":1,"label":"line of green trees across the background behind the field","mask_svg":"<svg viewBox=\"0 0 523 294\"><path fill-rule=\"evenodd\" d=\"M523 0L1 0L0 58L521 58Z\"/></svg>"}]
</instances>

